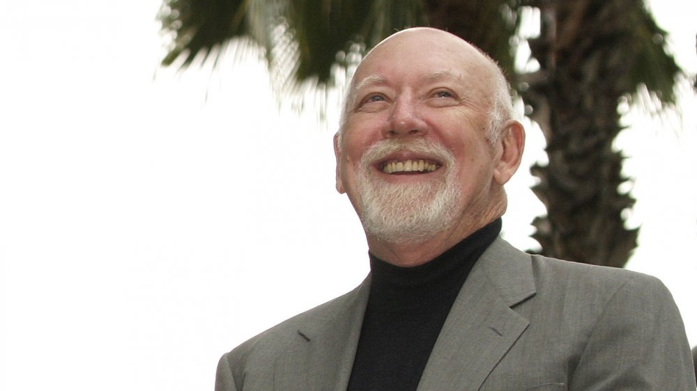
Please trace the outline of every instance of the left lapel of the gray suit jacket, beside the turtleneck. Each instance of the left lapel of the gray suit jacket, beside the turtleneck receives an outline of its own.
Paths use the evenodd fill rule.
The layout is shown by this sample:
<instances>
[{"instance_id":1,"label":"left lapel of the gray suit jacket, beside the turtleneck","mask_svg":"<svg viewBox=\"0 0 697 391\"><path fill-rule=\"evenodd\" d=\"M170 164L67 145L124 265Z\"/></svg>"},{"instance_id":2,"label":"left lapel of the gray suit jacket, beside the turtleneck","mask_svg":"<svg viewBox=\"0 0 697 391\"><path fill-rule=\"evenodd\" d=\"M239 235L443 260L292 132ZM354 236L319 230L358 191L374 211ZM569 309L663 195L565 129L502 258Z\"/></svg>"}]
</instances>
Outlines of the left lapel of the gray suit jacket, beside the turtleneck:
<instances>
[{"instance_id":1,"label":"left lapel of the gray suit jacket, beside the turtleneck","mask_svg":"<svg viewBox=\"0 0 697 391\"><path fill-rule=\"evenodd\" d=\"M298 326L293 349L277 358L279 391L346 390L368 301L370 278Z\"/></svg>"}]
</instances>

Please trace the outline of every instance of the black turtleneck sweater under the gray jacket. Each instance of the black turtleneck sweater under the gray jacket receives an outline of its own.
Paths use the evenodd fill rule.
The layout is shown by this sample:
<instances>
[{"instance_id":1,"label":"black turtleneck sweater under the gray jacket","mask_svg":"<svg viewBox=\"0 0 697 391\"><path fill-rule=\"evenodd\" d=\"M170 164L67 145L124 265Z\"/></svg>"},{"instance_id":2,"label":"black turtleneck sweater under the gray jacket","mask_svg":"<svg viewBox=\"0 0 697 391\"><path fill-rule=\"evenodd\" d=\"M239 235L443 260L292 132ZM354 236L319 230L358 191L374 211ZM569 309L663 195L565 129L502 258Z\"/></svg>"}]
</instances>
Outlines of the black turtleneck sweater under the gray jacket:
<instances>
[{"instance_id":1,"label":"black turtleneck sweater under the gray jacket","mask_svg":"<svg viewBox=\"0 0 697 391\"><path fill-rule=\"evenodd\" d=\"M498 218L414 267L370 254L372 282L348 391L416 390L452 303L500 231Z\"/></svg>"}]
</instances>

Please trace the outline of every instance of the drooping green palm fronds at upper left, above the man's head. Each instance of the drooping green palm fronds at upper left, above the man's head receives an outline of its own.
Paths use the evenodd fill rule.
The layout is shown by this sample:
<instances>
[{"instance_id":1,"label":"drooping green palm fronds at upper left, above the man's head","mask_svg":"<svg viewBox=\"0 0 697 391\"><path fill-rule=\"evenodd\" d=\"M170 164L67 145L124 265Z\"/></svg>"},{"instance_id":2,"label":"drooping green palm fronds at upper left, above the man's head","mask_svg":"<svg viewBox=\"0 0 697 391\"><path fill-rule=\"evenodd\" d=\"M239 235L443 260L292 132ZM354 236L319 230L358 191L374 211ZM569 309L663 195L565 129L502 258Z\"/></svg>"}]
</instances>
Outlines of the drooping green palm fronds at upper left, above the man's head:
<instances>
[{"instance_id":1,"label":"drooping green palm fronds at upper left, above the man's head","mask_svg":"<svg viewBox=\"0 0 697 391\"><path fill-rule=\"evenodd\" d=\"M212 56L215 47L248 36L266 49L271 65L286 85L316 78L330 81L332 65L352 45L372 47L394 31L426 22L420 0L166 0L162 31L171 35L163 65L183 58ZM345 64L344 64L345 65Z\"/></svg>"}]
</instances>

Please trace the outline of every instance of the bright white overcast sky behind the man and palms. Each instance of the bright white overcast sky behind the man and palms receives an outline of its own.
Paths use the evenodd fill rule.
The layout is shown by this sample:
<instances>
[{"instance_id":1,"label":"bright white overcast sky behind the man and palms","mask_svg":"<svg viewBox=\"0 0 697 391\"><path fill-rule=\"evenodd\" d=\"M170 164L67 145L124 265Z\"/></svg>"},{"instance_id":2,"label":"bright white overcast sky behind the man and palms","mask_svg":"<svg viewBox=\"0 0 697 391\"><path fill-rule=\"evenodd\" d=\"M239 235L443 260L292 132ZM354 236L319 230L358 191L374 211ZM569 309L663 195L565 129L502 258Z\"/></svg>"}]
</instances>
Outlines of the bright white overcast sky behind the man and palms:
<instances>
[{"instance_id":1,"label":"bright white overcast sky behind the man and palms","mask_svg":"<svg viewBox=\"0 0 697 391\"><path fill-rule=\"evenodd\" d=\"M694 1L654 1L697 72ZM0 389L210 390L247 337L367 273L334 190L331 137L277 104L263 67L158 70L159 0L3 4L0 13ZM689 9L688 9L689 8ZM696 99L672 126L632 116L642 224L629 269L664 280L697 344ZM207 96L207 98L206 98ZM335 102L334 102L335 104ZM505 234L541 210L528 150Z\"/></svg>"}]
</instances>

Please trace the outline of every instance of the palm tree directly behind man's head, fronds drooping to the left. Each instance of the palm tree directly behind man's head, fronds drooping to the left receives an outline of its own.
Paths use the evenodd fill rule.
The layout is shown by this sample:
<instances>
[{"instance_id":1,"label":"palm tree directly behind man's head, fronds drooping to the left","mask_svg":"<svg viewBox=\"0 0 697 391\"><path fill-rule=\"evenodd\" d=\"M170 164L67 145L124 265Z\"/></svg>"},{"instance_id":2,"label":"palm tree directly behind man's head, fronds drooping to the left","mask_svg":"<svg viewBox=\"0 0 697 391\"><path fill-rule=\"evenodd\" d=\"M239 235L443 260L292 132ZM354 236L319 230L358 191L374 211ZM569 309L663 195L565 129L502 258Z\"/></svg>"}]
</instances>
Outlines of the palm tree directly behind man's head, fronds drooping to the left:
<instances>
[{"instance_id":1,"label":"palm tree directly behind man's head, fronds drooping to the left","mask_svg":"<svg viewBox=\"0 0 697 391\"><path fill-rule=\"evenodd\" d=\"M234 38L251 38L266 49L268 63L293 61L292 81L330 81L330 70L342 63L337 54L355 44L373 47L406 26L432 24L468 37L512 69L510 38L514 10L508 1L422 0L164 0L162 30L173 36L163 65L183 58L217 56ZM507 9L508 17L503 17ZM461 15L453 18L452 15ZM451 20L447 20L450 18ZM444 23L434 23L443 20ZM487 20L487 24L482 24Z\"/></svg>"}]
</instances>

